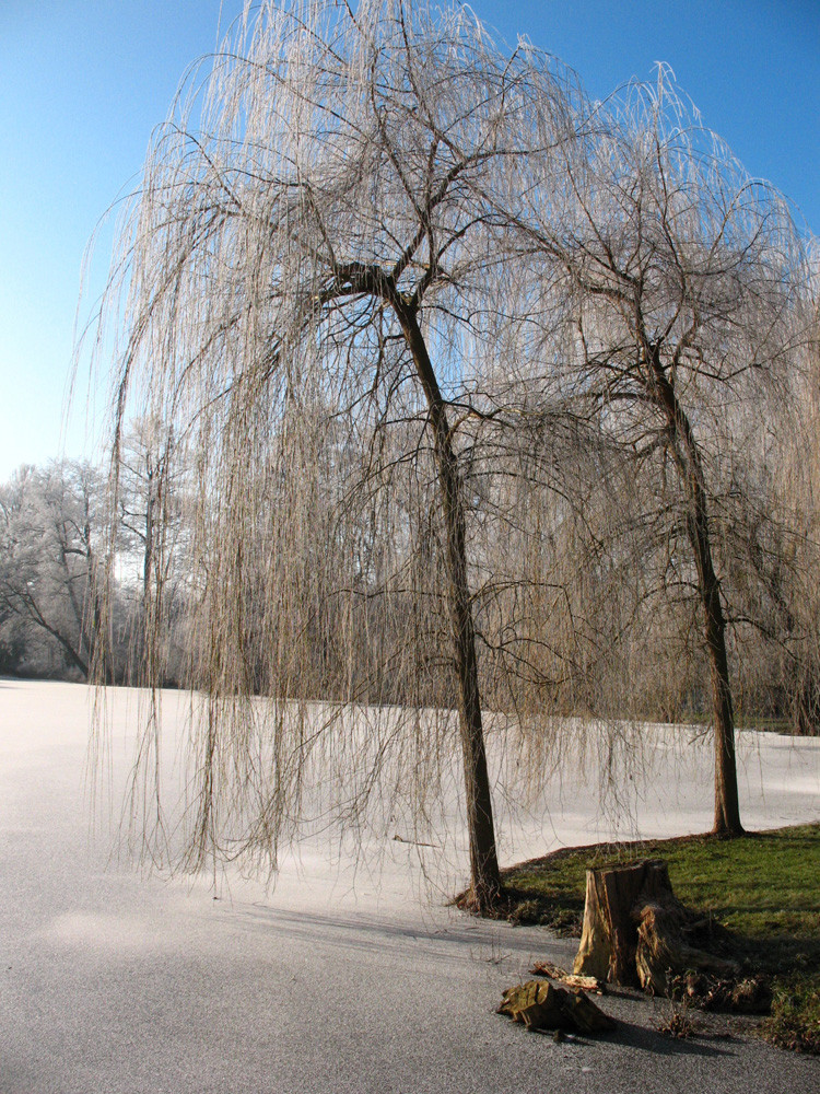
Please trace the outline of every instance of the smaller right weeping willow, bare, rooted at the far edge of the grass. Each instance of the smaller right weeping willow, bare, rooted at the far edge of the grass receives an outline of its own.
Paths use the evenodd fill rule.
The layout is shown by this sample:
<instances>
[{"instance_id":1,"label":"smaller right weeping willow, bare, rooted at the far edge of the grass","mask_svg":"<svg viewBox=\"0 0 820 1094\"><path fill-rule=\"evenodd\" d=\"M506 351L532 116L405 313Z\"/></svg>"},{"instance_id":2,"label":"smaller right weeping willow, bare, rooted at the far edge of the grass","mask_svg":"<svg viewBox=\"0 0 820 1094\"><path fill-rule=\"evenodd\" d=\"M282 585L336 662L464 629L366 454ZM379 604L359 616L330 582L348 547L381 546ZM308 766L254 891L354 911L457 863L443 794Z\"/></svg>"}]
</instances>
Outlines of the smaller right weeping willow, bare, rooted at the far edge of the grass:
<instances>
[{"instance_id":1,"label":"smaller right weeping willow, bare, rooted at the far edge of the grass","mask_svg":"<svg viewBox=\"0 0 820 1094\"><path fill-rule=\"evenodd\" d=\"M644 533L632 566L700 615L714 830L737 834L729 579L755 438L794 422L810 331L804 241L783 199L700 127L663 70L656 88L630 86L601 107L561 154L558 174L554 155L549 172L530 161L524 199L505 201L551 316L541 357L566 405L631 468L623 512Z\"/></svg>"}]
</instances>

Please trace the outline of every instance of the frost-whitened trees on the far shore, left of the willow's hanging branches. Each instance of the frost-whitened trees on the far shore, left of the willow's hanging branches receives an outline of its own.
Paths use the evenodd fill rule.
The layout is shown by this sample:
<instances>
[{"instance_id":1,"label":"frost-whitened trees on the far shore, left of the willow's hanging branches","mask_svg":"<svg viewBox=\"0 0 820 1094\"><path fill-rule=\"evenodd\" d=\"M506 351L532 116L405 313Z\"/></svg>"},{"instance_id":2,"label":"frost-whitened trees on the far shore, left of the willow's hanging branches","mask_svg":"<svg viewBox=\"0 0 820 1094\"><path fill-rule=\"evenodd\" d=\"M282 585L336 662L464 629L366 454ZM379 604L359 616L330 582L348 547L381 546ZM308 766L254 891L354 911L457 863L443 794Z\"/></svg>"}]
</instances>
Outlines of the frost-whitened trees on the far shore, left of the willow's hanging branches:
<instances>
[{"instance_id":1,"label":"frost-whitened trees on the far shore, left of the willow's hanging branches","mask_svg":"<svg viewBox=\"0 0 820 1094\"><path fill-rule=\"evenodd\" d=\"M103 605L103 557L112 498L106 476L87 462L62 459L23 466L0 485L0 673L87 680L105 649L103 678L178 687L188 678L181 578L167 562L166 660L161 678L145 657L152 610L153 529L162 520L183 535L183 491L160 484L159 433L147 421L125 438L116 502L116 581ZM107 594L106 594L107 595Z\"/></svg>"}]
</instances>

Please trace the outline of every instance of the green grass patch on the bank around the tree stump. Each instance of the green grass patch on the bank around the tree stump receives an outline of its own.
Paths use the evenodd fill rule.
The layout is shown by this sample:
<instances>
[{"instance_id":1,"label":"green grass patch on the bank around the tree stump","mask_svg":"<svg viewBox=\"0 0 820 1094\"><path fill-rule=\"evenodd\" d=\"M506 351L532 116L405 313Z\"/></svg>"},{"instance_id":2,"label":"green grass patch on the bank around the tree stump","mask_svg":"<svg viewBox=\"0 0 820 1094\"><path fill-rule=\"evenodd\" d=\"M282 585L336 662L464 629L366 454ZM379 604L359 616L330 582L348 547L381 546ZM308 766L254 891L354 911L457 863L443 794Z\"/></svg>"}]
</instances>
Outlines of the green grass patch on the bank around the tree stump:
<instances>
[{"instance_id":1,"label":"green grass patch on the bank around the tree stump","mask_svg":"<svg viewBox=\"0 0 820 1094\"><path fill-rule=\"evenodd\" d=\"M820 824L554 851L503 872L511 919L579 935L587 869L640 859L664 859L676 896L713 916L745 964L773 977L765 1035L820 1052Z\"/></svg>"}]
</instances>

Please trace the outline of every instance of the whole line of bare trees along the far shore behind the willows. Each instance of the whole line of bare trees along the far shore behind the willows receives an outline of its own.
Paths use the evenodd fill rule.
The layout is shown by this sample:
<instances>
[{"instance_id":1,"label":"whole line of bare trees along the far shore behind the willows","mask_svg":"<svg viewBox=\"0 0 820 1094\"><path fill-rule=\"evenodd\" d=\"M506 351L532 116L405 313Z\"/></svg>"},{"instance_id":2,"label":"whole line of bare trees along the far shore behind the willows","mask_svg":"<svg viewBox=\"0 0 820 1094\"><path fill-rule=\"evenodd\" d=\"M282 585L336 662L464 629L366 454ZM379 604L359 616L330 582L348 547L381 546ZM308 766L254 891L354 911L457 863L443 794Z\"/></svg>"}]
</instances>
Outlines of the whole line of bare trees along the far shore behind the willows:
<instances>
[{"instance_id":1,"label":"whole line of bare trees along the far shore behind the willows","mask_svg":"<svg viewBox=\"0 0 820 1094\"><path fill-rule=\"evenodd\" d=\"M820 380L820 377L819 377ZM804 409L815 414L816 396L805 391ZM740 412L741 408L737 408ZM730 408L723 408L728 415ZM811 449L800 451L793 430L793 409L783 407L778 422L747 423L734 466L716 497L721 516L717 551L722 591L727 604L727 649L741 724L774 724L784 732L820 732L820 512L815 498L820 464ZM816 428L820 431L820 421ZM786 440L778 437L784 431ZM157 468L167 458L159 431L144 422L129 430L121 453L122 477L117 496L118 534L113 602L106 615L103 662L112 683L197 686L202 642L197 617L203 573L189 547L198 517L185 476L161 484ZM577 440L576 442L577 443ZM313 453L325 482L354 455L347 444L325 438L325 451ZM511 492L482 498L482 472L475 468L476 505L504 508L504 535L485 536L477 563L475 598L481 650L483 694L488 706L523 711L527 691L538 685L542 708L561 714L611 714L660 722L703 720L710 715L708 666L688 592L691 578L672 556L673 519L661 498L652 505L613 516L613 499L637 503L631 472L604 466L604 453L573 451L567 439L566 468L575 480L573 504L554 493L549 511L535 504L542 468L538 439L516 451L515 476L527 484L525 504ZM505 452L503 458L509 459ZM611 455L611 454L610 454ZM496 449L493 458L502 459ZM640 461L639 461L640 464ZM586 466L585 466L586 465ZM248 474L253 474L248 469ZM269 492L270 470L257 472ZM365 473L360 469L358 474ZM391 474L398 476L399 467ZM553 469L554 474L554 469ZM352 526L330 517L327 499L314 499L312 535L317 546L306 561L312 569L314 603L305 621L315 651L303 694L311 698L401 703L418 699L446 706L446 682L388 655L399 631L421 626L397 619L366 587L378 587L388 527L406 528L408 542L427 540L425 565L441 545L430 527L412 528L400 510L402 490L367 503L364 512L345 513ZM336 485L338 489L338 484ZM668 489L668 485L666 486ZM529 496L531 491L532 496ZM169 496L168 496L169 494ZM272 501L268 498L267 504ZM260 614L265 567L272 546L259 527L265 505L253 522L256 540L248 548L257 593L246 597L251 687L266 690L265 642ZM99 653L101 561L108 550L110 496L105 475L89 463L65 459L23 466L0 485L0 673L49 679L85 680ZM155 557L155 524L162 520L164 551ZM173 528L173 538L168 529ZM201 561L200 561L201 567ZM162 566L164 606L154 603ZM326 595L331 581L349 581L344 603ZM681 572L683 570L683 572ZM253 582L251 582L253 584ZM359 589L359 594L356 593ZM199 590L199 592L197 592ZM526 594L526 607L522 601ZM165 660L152 674L144 628L162 616ZM159 620L157 620L159 621ZM444 628L444 619L425 627ZM349 652L353 643L353 654ZM500 673L496 662L506 671ZM429 667L429 666L427 666ZM436 683L436 679L438 683ZM531 700L529 700L531 707Z\"/></svg>"}]
</instances>

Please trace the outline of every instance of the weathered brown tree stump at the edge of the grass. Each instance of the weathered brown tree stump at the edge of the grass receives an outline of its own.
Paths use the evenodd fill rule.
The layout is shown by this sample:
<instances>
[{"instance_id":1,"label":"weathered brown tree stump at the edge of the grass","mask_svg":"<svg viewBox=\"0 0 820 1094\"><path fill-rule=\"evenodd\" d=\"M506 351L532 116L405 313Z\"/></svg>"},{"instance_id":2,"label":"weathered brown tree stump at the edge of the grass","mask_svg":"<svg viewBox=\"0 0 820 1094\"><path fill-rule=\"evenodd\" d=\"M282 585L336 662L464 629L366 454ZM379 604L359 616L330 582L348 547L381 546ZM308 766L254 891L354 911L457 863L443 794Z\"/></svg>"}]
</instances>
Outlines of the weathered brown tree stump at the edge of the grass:
<instances>
[{"instance_id":1,"label":"weathered brown tree stump at the edge of the grass","mask_svg":"<svg viewBox=\"0 0 820 1094\"><path fill-rule=\"evenodd\" d=\"M586 906L573 971L663 994L670 975L701 969L737 974L737 966L692 945L702 926L675 896L665 862L586 872Z\"/></svg>"}]
</instances>

